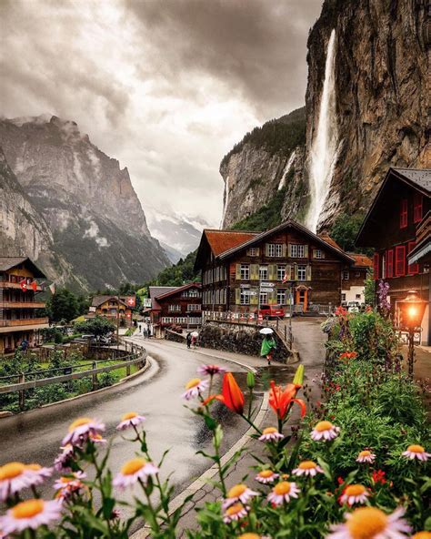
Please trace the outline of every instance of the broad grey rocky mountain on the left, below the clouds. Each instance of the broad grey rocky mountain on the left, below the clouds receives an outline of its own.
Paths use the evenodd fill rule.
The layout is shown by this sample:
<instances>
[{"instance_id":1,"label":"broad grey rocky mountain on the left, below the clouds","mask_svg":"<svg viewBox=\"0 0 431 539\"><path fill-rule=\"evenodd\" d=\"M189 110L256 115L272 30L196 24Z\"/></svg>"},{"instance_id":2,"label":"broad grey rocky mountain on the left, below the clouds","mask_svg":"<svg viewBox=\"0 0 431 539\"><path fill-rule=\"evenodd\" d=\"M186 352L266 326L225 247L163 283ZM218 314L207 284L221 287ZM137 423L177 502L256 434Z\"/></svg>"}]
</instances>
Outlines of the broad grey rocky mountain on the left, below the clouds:
<instances>
[{"instance_id":1,"label":"broad grey rocky mountain on the left, below the clouds","mask_svg":"<svg viewBox=\"0 0 431 539\"><path fill-rule=\"evenodd\" d=\"M4 119L0 145L26 199L45 222L52 239L45 245L67 260L83 288L142 282L169 265L150 236L127 169L95 147L75 122ZM65 280L76 288L76 282Z\"/></svg>"}]
</instances>

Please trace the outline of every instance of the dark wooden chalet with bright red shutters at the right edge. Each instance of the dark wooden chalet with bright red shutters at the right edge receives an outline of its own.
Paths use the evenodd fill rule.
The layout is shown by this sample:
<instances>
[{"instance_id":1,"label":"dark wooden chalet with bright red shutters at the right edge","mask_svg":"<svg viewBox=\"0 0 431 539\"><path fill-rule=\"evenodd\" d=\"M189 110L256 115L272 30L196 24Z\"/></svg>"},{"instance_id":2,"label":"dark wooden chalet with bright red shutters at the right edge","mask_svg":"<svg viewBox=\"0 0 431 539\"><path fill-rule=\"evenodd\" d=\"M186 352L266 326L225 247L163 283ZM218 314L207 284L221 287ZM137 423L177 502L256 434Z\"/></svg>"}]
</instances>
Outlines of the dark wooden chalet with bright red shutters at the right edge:
<instances>
[{"instance_id":1,"label":"dark wooden chalet with bright red shutters at the right edge","mask_svg":"<svg viewBox=\"0 0 431 539\"><path fill-rule=\"evenodd\" d=\"M391 309L416 290L428 302L421 341L431 344L431 169L389 168L356 238L375 249L374 276L389 284Z\"/></svg>"}]
</instances>

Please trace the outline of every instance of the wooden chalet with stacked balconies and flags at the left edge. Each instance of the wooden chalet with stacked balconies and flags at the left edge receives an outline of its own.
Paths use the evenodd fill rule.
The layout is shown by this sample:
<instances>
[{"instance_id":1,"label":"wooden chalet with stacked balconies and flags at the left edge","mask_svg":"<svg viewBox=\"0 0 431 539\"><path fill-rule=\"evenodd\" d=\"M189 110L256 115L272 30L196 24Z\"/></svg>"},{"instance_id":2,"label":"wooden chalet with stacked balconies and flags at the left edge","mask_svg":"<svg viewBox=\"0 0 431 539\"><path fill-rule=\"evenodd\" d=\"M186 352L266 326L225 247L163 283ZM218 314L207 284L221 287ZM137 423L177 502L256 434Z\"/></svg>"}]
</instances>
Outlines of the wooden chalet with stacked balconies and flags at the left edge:
<instances>
[{"instance_id":1,"label":"wooden chalet with stacked balconies and flags at the left edge","mask_svg":"<svg viewBox=\"0 0 431 539\"><path fill-rule=\"evenodd\" d=\"M37 344L36 332L49 327L46 316L38 313L45 302L37 299L42 291L43 271L23 257L0 257L0 353L13 352L23 341Z\"/></svg>"}]
</instances>

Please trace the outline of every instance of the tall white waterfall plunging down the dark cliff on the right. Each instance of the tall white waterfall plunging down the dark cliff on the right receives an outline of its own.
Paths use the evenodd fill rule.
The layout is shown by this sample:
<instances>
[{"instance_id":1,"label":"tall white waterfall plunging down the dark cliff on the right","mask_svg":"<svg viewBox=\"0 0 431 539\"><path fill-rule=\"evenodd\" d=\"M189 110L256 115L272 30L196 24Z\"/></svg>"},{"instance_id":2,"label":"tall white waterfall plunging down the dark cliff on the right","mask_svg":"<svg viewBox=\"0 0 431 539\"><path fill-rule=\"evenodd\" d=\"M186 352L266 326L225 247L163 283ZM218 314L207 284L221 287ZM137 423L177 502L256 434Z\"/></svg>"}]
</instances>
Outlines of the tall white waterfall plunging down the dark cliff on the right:
<instances>
[{"instance_id":1,"label":"tall white waterfall plunging down the dark cliff on the right","mask_svg":"<svg viewBox=\"0 0 431 539\"><path fill-rule=\"evenodd\" d=\"M310 207L306 224L316 232L336 165L336 30L327 45L325 81L320 101L315 139L311 146Z\"/></svg>"}]
</instances>

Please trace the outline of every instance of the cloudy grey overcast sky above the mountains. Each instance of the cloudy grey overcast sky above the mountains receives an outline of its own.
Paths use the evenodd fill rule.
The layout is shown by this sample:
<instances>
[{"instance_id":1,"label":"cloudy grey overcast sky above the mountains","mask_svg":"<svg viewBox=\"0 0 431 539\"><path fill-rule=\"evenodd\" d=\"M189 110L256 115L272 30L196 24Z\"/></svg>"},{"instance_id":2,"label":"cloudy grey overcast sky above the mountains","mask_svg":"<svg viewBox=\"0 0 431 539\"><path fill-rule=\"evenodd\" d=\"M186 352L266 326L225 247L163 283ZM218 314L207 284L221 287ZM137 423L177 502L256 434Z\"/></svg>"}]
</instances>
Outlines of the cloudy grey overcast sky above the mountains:
<instances>
[{"instance_id":1,"label":"cloudy grey overcast sky above the mountains","mask_svg":"<svg viewBox=\"0 0 431 539\"><path fill-rule=\"evenodd\" d=\"M0 114L72 119L147 217L218 225L221 158L305 101L322 0L0 0Z\"/></svg>"}]
</instances>

